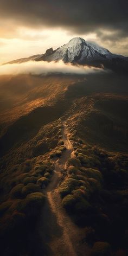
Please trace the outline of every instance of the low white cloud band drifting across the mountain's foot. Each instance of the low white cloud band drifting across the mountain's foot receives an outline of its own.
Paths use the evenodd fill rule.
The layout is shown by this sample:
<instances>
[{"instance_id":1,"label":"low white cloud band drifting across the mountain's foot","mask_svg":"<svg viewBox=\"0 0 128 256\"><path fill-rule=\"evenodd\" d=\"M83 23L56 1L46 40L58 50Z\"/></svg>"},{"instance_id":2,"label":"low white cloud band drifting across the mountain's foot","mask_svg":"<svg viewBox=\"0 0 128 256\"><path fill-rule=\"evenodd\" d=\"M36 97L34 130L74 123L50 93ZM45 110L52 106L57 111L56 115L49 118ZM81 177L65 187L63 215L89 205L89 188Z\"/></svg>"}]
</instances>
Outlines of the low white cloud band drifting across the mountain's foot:
<instances>
[{"instance_id":1,"label":"low white cloud band drifting across the mountain's foot","mask_svg":"<svg viewBox=\"0 0 128 256\"><path fill-rule=\"evenodd\" d=\"M28 61L24 63L14 63L0 66L0 75L47 75L53 73L62 74L91 74L96 72L105 72L103 68L94 68L88 66L74 66L63 61Z\"/></svg>"}]
</instances>

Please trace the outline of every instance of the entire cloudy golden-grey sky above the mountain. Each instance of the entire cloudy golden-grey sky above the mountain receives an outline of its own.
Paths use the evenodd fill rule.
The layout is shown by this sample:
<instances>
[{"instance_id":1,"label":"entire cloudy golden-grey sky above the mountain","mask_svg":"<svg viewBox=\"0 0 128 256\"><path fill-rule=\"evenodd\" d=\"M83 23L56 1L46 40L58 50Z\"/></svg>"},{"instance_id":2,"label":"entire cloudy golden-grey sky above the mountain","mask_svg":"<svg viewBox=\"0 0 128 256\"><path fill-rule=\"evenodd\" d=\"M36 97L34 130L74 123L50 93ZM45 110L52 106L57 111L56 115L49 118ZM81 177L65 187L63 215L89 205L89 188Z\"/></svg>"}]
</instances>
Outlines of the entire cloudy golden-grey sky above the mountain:
<instances>
[{"instance_id":1,"label":"entire cloudy golden-grey sky above the mountain","mask_svg":"<svg viewBox=\"0 0 128 256\"><path fill-rule=\"evenodd\" d=\"M127 0L0 0L0 63L75 36L128 56Z\"/></svg>"}]
</instances>

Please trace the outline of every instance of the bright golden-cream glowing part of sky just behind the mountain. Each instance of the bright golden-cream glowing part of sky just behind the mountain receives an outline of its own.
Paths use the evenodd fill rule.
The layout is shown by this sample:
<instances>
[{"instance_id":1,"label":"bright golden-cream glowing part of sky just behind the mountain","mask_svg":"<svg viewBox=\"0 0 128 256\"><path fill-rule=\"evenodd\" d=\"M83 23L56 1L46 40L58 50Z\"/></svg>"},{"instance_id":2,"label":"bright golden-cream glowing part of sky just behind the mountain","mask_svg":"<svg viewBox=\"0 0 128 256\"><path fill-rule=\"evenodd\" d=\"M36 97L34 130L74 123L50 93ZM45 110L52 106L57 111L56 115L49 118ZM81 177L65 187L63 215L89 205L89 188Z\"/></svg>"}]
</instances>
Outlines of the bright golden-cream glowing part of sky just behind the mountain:
<instances>
[{"instance_id":1,"label":"bright golden-cream glowing part of sky just behind the mountain","mask_svg":"<svg viewBox=\"0 0 128 256\"><path fill-rule=\"evenodd\" d=\"M111 35L111 31L104 31L107 35ZM22 57L28 57L35 54L42 54L50 47L56 49L67 43L75 36L80 36L87 41L94 41L101 46L108 48L113 53L117 53L117 47L111 46L108 41L103 42L96 33L88 34L69 34L69 31L60 28L54 29L30 29L26 27L18 27L12 37L4 37L4 31L0 38L0 64ZM118 53L123 53L124 41L118 44Z\"/></svg>"}]
</instances>

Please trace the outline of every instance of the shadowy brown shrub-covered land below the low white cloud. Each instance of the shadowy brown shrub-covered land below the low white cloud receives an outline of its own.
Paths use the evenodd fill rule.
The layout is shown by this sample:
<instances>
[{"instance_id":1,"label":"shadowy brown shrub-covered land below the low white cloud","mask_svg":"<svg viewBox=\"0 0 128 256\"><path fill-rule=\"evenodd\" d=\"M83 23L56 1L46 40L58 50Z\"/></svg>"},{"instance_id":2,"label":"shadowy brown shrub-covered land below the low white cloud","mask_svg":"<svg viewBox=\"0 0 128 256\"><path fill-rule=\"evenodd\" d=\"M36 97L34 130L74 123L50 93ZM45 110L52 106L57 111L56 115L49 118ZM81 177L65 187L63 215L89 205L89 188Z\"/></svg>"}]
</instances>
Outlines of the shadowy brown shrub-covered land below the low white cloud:
<instances>
[{"instance_id":1,"label":"shadowy brown shrub-covered land below the low white cloud","mask_svg":"<svg viewBox=\"0 0 128 256\"><path fill-rule=\"evenodd\" d=\"M127 76L0 79L2 255L126 255Z\"/></svg>"}]
</instances>

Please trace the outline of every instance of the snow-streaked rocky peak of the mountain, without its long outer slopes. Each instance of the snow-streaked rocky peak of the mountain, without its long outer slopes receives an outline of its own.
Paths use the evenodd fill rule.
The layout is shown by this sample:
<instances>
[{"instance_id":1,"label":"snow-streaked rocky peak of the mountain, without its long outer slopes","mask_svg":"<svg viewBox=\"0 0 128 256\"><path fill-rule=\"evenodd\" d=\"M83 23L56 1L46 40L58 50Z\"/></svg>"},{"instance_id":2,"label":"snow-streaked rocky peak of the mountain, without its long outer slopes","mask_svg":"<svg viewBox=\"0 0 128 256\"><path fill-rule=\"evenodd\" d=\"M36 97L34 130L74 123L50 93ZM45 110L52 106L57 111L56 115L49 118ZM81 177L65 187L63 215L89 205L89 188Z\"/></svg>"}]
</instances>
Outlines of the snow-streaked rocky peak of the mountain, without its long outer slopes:
<instances>
[{"instance_id":1,"label":"snow-streaked rocky peak of the mountain, without its long outer slopes","mask_svg":"<svg viewBox=\"0 0 128 256\"><path fill-rule=\"evenodd\" d=\"M88 43L81 37L74 37L67 44L64 44L62 47L50 52L49 55L47 55L47 51L46 54L37 57L36 60L63 60L64 62L82 63L86 61L103 60L105 58L112 59L117 57L117 55L110 53L107 49L94 43Z\"/></svg>"}]
</instances>

